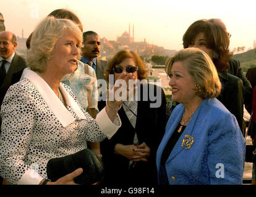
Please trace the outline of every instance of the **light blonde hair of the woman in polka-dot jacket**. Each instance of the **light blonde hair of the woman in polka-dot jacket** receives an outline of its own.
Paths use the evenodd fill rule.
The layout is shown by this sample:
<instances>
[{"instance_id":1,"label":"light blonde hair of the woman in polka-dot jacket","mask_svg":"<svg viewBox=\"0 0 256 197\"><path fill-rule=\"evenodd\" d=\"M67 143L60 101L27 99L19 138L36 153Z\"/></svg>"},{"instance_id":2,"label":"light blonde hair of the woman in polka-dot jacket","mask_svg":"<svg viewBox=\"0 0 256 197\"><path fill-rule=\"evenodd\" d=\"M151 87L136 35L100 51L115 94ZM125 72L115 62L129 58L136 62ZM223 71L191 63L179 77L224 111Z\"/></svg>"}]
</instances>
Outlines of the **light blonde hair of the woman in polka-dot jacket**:
<instances>
[{"instance_id":1,"label":"light blonde hair of the woman in polka-dot jacket","mask_svg":"<svg viewBox=\"0 0 256 197\"><path fill-rule=\"evenodd\" d=\"M79 25L68 19L46 17L33 31L30 49L27 50L26 62L31 70L45 70L46 60L47 58L54 57L56 42L63 36L64 30L70 31L79 41L79 55L77 59L80 60L83 34Z\"/></svg>"}]
</instances>

